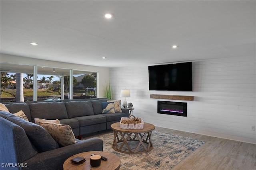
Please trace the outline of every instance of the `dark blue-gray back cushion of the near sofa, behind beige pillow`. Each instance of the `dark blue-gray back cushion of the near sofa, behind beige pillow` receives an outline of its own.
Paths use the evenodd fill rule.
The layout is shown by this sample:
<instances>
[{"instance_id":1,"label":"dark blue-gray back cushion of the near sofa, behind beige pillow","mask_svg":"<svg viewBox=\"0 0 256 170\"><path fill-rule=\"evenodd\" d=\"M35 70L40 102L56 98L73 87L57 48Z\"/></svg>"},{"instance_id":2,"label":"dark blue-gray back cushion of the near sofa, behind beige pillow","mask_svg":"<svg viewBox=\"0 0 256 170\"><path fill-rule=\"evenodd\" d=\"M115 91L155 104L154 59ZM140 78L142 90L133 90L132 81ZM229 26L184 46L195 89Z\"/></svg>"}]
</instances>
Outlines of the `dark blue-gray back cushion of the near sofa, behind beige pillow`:
<instances>
[{"instance_id":1,"label":"dark blue-gray back cushion of the near sofa, behind beige pillow","mask_svg":"<svg viewBox=\"0 0 256 170\"><path fill-rule=\"evenodd\" d=\"M16 116L9 116L6 119L22 127L39 152L45 152L59 147L58 143L43 127Z\"/></svg>"}]
</instances>

